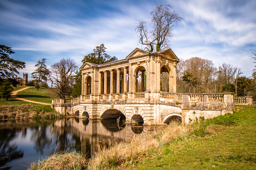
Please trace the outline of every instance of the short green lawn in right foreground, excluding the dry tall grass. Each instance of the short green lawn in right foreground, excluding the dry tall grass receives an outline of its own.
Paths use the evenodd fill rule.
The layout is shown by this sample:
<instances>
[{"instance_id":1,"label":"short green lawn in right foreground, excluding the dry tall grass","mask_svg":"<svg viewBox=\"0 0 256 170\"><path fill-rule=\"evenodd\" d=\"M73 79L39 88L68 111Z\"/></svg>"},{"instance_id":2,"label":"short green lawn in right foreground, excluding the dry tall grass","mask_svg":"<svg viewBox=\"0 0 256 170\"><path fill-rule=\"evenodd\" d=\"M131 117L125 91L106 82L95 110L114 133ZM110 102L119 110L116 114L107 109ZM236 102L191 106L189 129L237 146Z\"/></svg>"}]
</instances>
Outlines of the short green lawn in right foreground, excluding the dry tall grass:
<instances>
[{"instance_id":1,"label":"short green lawn in right foreground, excluding the dry tall grass","mask_svg":"<svg viewBox=\"0 0 256 170\"><path fill-rule=\"evenodd\" d=\"M131 169L255 169L256 106L236 108L233 114L194 124L188 135L126 165Z\"/></svg>"}]
</instances>

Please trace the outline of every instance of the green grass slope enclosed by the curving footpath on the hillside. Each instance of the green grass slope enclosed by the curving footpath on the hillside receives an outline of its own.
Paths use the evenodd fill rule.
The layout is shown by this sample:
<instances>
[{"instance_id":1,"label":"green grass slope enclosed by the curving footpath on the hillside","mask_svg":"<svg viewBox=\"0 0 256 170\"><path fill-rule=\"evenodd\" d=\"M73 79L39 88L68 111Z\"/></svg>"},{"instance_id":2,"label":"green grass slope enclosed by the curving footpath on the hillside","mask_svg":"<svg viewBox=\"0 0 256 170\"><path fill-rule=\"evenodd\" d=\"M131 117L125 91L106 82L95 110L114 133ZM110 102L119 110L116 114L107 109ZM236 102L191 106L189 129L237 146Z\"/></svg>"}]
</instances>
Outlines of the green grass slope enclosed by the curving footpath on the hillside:
<instances>
[{"instance_id":1,"label":"green grass slope enclosed by the curving footpath on the hillside","mask_svg":"<svg viewBox=\"0 0 256 170\"><path fill-rule=\"evenodd\" d=\"M35 87L23 90L19 92L17 96L20 98L44 103L51 103L51 99L58 98L58 96L53 92L51 88L40 88L39 90L36 90Z\"/></svg>"}]
</instances>

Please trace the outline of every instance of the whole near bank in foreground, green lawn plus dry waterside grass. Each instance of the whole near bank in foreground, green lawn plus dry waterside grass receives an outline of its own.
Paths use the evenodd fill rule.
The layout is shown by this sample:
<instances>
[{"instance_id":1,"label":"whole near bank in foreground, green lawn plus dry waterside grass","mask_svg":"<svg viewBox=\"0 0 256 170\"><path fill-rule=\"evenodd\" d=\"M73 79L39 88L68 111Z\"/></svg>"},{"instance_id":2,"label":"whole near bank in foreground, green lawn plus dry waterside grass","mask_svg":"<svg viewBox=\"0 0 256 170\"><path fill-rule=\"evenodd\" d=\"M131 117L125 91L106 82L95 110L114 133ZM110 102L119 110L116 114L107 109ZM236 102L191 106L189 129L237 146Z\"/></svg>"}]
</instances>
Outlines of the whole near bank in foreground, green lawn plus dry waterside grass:
<instances>
[{"instance_id":1,"label":"whole near bank in foreground, green lawn plus dry waterside grass","mask_svg":"<svg viewBox=\"0 0 256 170\"><path fill-rule=\"evenodd\" d=\"M102 148L88 164L80 155L76 169L254 169L255 134L256 107L236 106L233 114L191 125L173 123L157 134L136 136L131 143ZM73 157L77 153L65 154ZM53 156L61 158L63 154ZM49 156L31 169L64 169L57 164L51 166L51 161Z\"/></svg>"}]
</instances>

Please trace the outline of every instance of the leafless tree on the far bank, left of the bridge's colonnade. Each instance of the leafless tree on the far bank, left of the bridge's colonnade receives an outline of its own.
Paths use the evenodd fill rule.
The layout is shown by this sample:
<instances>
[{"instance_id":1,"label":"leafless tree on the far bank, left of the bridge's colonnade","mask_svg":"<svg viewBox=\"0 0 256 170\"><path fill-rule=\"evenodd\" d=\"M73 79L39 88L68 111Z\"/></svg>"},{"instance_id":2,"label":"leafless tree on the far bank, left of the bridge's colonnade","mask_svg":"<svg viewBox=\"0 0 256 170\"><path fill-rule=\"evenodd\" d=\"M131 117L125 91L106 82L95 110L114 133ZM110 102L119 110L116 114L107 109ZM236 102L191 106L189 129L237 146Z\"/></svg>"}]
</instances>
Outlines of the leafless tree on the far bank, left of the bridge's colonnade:
<instances>
[{"instance_id":1,"label":"leafless tree on the far bank, left of the bridge's colonnade","mask_svg":"<svg viewBox=\"0 0 256 170\"><path fill-rule=\"evenodd\" d=\"M57 87L57 94L61 99L66 95L70 95L70 86L78 65L72 59L61 59L58 63L51 66L51 74L49 76L52 84Z\"/></svg>"}]
</instances>

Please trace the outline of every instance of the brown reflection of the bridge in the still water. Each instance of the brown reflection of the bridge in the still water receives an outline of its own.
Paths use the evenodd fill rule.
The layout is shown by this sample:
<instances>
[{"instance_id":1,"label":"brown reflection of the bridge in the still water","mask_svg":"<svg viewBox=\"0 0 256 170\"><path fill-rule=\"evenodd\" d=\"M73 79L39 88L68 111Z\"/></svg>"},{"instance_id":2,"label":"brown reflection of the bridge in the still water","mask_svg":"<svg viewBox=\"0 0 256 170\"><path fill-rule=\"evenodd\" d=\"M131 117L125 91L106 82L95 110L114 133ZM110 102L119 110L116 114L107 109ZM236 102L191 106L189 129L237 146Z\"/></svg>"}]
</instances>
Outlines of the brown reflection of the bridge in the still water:
<instances>
[{"instance_id":1,"label":"brown reflection of the bridge in the still water","mask_svg":"<svg viewBox=\"0 0 256 170\"><path fill-rule=\"evenodd\" d=\"M125 119L66 118L51 124L51 131L59 136L60 151L68 148L80 150L86 158L92 157L99 146L110 147L121 141L129 142L135 135L156 130L156 126L143 126L142 123L125 124ZM75 143L67 140L69 135Z\"/></svg>"}]
</instances>

